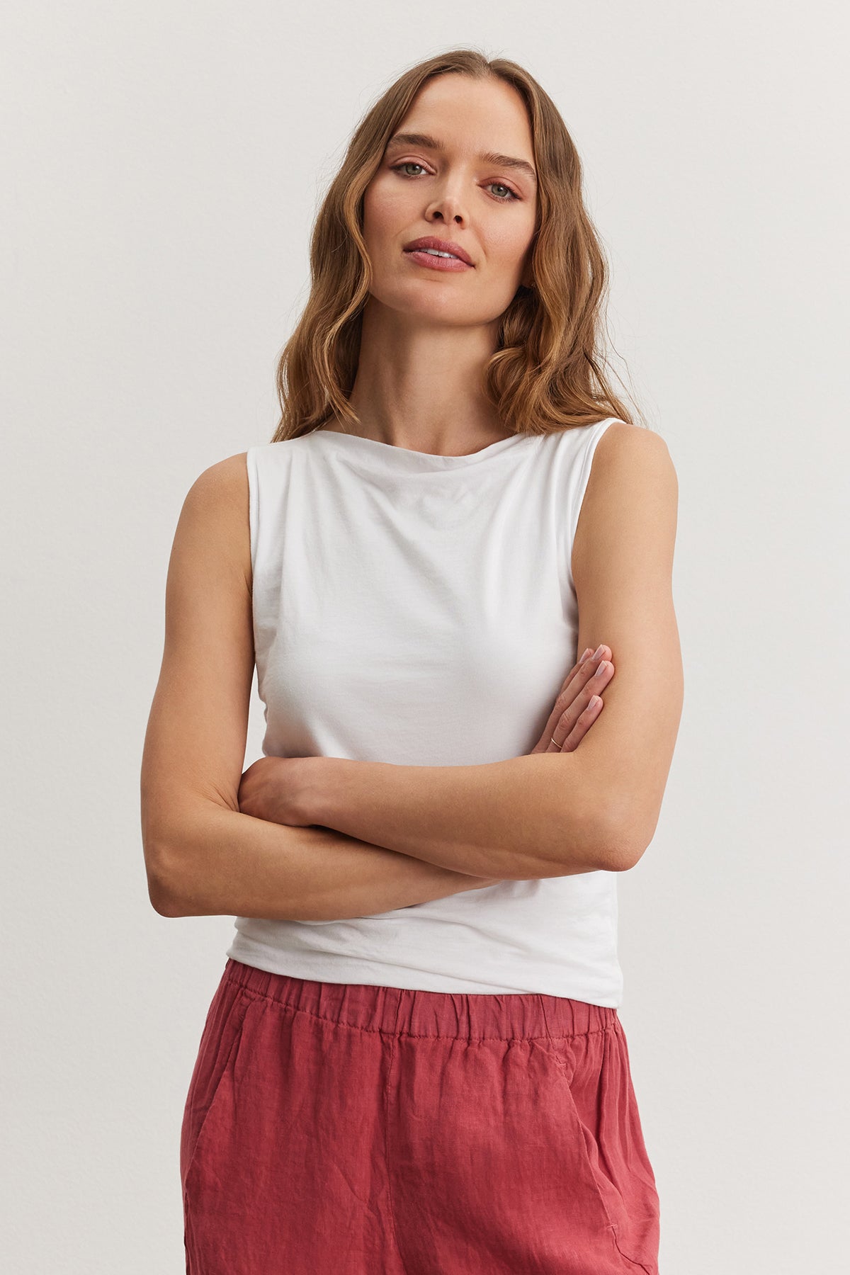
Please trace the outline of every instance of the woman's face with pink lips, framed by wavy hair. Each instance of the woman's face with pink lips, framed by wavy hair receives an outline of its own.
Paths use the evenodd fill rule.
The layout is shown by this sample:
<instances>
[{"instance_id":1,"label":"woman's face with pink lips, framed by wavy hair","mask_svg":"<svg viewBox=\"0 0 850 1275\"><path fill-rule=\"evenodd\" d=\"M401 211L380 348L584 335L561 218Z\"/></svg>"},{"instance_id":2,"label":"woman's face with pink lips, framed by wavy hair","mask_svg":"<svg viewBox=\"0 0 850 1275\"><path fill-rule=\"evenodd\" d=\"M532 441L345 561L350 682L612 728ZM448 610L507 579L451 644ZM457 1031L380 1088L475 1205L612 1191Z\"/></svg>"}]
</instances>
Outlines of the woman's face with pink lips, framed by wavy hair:
<instances>
[{"instance_id":1,"label":"woman's face with pink lips, framed by wavy hair","mask_svg":"<svg viewBox=\"0 0 850 1275\"><path fill-rule=\"evenodd\" d=\"M371 292L423 320L492 323L519 284L531 282L535 217L531 129L516 89L501 79L438 75L419 91L363 196ZM424 236L454 242L472 266L433 269L433 258L405 251Z\"/></svg>"}]
</instances>

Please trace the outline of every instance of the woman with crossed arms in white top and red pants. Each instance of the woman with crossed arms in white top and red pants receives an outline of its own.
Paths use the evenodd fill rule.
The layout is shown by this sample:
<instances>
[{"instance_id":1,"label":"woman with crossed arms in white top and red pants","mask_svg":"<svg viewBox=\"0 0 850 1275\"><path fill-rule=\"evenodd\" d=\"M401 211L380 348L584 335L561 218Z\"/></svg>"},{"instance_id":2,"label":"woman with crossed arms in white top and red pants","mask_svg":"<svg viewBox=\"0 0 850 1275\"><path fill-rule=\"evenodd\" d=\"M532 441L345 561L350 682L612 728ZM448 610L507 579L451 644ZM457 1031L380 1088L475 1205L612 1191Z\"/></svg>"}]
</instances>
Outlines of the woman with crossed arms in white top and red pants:
<instances>
[{"instance_id":1,"label":"woman with crossed arms in white top and red pants","mask_svg":"<svg viewBox=\"0 0 850 1275\"><path fill-rule=\"evenodd\" d=\"M677 481L603 372L549 97L474 51L407 71L311 266L273 441L186 497L145 740L154 908L236 917L187 1271L649 1275L616 873L678 731Z\"/></svg>"}]
</instances>

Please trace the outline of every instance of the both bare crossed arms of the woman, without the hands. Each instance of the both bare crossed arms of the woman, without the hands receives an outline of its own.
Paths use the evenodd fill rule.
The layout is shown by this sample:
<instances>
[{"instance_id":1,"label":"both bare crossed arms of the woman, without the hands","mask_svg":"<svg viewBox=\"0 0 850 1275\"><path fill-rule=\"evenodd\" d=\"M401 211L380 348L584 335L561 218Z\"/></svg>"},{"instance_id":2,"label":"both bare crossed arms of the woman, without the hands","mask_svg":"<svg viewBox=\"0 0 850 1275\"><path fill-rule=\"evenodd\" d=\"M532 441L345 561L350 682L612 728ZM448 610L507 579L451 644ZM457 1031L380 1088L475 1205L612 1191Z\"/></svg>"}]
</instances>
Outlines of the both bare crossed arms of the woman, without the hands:
<instances>
[{"instance_id":1,"label":"both bare crossed arms of the woman, without the hands","mask_svg":"<svg viewBox=\"0 0 850 1275\"><path fill-rule=\"evenodd\" d=\"M610 425L572 572L579 650L607 643L617 676L580 748L479 766L287 759L312 769L297 785L298 821L283 824L238 799L254 673L245 454L205 470L175 534L143 756L154 908L334 919L500 880L632 867L658 824L683 700L677 500L660 436Z\"/></svg>"}]
</instances>

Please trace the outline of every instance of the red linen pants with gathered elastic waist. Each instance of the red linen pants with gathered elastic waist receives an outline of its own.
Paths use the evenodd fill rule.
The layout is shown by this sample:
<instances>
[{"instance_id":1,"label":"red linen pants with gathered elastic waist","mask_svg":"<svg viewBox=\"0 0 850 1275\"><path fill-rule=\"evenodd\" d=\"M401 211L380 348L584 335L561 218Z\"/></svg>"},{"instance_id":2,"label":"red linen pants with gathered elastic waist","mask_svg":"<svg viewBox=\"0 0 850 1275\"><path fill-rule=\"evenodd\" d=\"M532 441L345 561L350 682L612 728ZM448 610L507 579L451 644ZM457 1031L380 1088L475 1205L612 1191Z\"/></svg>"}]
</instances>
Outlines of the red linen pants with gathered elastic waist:
<instances>
[{"instance_id":1,"label":"red linen pants with gathered elastic waist","mask_svg":"<svg viewBox=\"0 0 850 1275\"><path fill-rule=\"evenodd\" d=\"M189 1275L658 1275L616 1009L231 958L180 1144Z\"/></svg>"}]
</instances>

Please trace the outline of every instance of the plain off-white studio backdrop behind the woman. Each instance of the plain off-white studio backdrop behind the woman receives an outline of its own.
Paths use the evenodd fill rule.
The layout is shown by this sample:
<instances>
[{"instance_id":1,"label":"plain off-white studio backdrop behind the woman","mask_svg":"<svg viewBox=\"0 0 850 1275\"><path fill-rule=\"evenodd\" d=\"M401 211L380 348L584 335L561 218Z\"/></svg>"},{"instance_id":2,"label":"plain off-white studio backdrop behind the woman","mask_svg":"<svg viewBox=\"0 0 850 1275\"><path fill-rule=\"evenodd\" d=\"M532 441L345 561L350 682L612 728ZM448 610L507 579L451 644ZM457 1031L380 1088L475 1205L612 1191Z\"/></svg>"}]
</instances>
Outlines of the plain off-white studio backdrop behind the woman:
<instances>
[{"instance_id":1,"label":"plain off-white studio backdrop behind the woman","mask_svg":"<svg viewBox=\"0 0 850 1275\"><path fill-rule=\"evenodd\" d=\"M619 877L661 1275L837 1270L841 6L33 0L4 27L5 1269L184 1270L180 1121L232 921L147 895L171 541L198 474L271 436L356 122L412 62L473 45L567 121L616 349L679 476L684 711L655 839ZM255 699L246 765L260 724Z\"/></svg>"}]
</instances>

